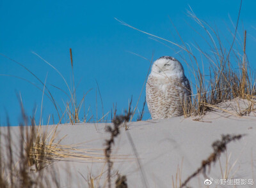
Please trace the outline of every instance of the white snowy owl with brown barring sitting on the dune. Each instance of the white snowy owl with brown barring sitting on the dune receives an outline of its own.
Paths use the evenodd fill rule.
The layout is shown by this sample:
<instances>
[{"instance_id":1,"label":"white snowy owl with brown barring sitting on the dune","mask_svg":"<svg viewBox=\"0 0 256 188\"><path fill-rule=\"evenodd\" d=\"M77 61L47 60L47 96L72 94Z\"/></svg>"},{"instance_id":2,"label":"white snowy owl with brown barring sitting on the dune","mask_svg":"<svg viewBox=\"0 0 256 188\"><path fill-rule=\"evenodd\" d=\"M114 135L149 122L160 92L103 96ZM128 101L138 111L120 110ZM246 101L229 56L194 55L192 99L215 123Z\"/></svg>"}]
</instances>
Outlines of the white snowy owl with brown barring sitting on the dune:
<instances>
[{"instance_id":1,"label":"white snowy owl with brown barring sitting on the dune","mask_svg":"<svg viewBox=\"0 0 256 188\"><path fill-rule=\"evenodd\" d=\"M170 56L157 59L146 85L148 110L152 119L184 115L191 102L191 87L182 64Z\"/></svg>"}]
</instances>

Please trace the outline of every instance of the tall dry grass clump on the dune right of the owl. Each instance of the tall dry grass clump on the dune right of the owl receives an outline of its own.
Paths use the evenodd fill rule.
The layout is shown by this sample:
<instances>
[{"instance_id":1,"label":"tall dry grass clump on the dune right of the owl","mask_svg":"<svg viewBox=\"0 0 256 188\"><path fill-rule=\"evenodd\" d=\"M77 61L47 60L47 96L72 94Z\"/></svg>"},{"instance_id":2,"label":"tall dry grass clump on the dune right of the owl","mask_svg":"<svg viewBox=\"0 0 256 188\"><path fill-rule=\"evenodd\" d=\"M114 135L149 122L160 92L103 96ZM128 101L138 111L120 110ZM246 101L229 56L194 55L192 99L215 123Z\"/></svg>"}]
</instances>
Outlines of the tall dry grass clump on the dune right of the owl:
<instances>
[{"instance_id":1,"label":"tall dry grass clump on the dune right of the owl","mask_svg":"<svg viewBox=\"0 0 256 188\"><path fill-rule=\"evenodd\" d=\"M191 108L184 109L185 117L205 115L207 111L218 107L219 103L235 98L248 100L250 108L244 113L237 113L238 115L246 115L256 109L254 105L256 87L255 74L252 68L250 68L246 56L246 31L244 31L243 41L237 38L240 10L241 5L235 31L234 33L230 32L232 36L230 47L227 47L228 42L226 38L222 40L218 29L214 29L207 22L196 17L192 9L188 11L188 15L195 20L202 31L196 31L193 27L191 27L191 30L194 30L204 41L202 44L196 43L192 45L193 48L182 40L174 25L173 27L177 31L181 44L141 31L120 20L118 22L148 36L152 36L154 40L163 40L178 48L177 52L180 51L180 59L187 64L189 75L191 75L192 101L189 105ZM205 50L205 47L207 50ZM208 68L205 69L205 64L209 65L209 70ZM206 72L207 75L205 75Z\"/></svg>"}]
</instances>

